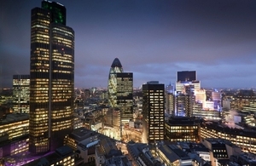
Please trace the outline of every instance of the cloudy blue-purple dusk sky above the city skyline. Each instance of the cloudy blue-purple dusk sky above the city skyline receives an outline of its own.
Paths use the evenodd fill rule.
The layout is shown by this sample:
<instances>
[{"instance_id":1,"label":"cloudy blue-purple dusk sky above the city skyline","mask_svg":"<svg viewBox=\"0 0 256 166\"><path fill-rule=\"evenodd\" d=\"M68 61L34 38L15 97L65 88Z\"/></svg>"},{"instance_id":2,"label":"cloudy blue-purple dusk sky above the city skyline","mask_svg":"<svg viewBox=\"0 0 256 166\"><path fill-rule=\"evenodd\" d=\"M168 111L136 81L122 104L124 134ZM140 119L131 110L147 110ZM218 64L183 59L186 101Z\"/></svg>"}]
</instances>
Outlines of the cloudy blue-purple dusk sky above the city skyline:
<instances>
[{"instance_id":1,"label":"cloudy blue-purple dusk sky above the city skyline","mask_svg":"<svg viewBox=\"0 0 256 166\"><path fill-rule=\"evenodd\" d=\"M196 71L202 88L256 88L255 0L59 0L75 31L75 87L108 86L119 58L134 87ZM31 9L0 3L0 88L29 74Z\"/></svg>"}]
</instances>

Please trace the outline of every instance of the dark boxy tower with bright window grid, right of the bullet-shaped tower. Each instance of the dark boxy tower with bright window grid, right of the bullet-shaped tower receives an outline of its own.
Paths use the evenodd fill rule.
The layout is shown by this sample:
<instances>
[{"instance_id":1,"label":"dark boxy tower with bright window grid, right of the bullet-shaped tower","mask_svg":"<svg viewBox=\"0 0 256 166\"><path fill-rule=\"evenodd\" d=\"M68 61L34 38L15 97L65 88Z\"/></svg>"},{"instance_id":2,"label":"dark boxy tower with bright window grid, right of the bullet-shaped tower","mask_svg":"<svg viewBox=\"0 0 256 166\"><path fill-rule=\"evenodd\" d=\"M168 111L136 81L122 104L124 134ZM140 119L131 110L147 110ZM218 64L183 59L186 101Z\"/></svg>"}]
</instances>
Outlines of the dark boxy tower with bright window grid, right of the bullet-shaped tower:
<instances>
[{"instance_id":1,"label":"dark boxy tower with bright window grid, right of the bullet-shaped tower","mask_svg":"<svg viewBox=\"0 0 256 166\"><path fill-rule=\"evenodd\" d=\"M159 82L143 84L143 118L148 122L148 142L165 137L165 85Z\"/></svg>"}]
</instances>

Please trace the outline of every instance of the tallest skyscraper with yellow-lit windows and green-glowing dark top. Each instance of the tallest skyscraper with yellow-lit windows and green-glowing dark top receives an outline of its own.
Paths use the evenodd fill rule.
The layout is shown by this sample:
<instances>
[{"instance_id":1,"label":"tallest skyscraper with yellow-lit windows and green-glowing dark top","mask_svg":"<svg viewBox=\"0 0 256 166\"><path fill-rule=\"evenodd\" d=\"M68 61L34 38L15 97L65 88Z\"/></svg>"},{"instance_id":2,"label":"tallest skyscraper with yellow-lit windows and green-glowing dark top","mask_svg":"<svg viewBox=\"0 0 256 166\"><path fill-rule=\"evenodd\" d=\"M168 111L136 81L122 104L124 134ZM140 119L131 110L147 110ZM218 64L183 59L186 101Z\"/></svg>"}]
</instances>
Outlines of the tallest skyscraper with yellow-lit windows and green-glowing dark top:
<instances>
[{"instance_id":1,"label":"tallest skyscraper with yellow-lit windows and green-glowing dark top","mask_svg":"<svg viewBox=\"0 0 256 166\"><path fill-rule=\"evenodd\" d=\"M32 9L30 76L29 151L55 150L73 129L74 31L60 3Z\"/></svg>"}]
</instances>

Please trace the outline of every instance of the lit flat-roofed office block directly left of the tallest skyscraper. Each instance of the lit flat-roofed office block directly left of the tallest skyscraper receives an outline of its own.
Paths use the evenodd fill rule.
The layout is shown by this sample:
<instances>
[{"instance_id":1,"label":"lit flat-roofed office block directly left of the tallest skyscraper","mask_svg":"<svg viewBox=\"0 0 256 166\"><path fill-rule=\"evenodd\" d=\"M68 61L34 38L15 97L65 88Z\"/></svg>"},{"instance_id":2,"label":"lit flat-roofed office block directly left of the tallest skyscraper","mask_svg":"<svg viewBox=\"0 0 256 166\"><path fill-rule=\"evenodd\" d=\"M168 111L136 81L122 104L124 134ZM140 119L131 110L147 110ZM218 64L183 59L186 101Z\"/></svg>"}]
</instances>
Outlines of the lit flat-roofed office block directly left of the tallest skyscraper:
<instances>
[{"instance_id":1,"label":"lit flat-roofed office block directly left of the tallest skyscraper","mask_svg":"<svg viewBox=\"0 0 256 166\"><path fill-rule=\"evenodd\" d=\"M15 113L29 113L30 76L13 76L13 110Z\"/></svg>"}]
</instances>

